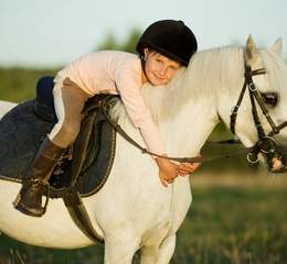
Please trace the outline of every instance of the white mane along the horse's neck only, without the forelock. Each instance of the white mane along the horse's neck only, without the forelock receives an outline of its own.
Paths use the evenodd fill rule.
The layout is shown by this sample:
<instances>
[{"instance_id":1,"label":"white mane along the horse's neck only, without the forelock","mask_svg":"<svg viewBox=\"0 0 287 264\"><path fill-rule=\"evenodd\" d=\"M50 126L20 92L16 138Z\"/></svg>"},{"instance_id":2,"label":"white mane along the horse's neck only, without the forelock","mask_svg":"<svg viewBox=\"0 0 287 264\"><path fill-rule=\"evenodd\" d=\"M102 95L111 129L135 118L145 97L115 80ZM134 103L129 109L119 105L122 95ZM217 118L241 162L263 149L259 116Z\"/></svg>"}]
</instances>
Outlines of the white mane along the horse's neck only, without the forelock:
<instances>
[{"instance_id":1,"label":"white mane along the horse's neck only, without the forelock","mask_svg":"<svg viewBox=\"0 0 287 264\"><path fill-rule=\"evenodd\" d=\"M213 87L224 87L228 91L234 82L241 86L238 76L243 75L243 50L240 47L199 52L189 67L180 69L168 85L144 86L142 96L156 122L173 119L188 101L195 102L204 97L214 97L215 100ZM114 108L115 118L124 111L119 105Z\"/></svg>"}]
</instances>

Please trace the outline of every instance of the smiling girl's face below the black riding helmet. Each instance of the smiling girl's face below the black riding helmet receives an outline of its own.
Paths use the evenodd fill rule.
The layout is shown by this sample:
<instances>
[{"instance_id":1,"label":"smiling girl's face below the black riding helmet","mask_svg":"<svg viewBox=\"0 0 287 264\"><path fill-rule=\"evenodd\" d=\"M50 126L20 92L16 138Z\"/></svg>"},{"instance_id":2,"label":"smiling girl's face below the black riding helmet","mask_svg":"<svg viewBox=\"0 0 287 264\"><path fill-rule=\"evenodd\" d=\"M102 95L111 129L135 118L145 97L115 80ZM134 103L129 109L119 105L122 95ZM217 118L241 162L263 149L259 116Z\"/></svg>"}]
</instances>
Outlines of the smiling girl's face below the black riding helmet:
<instances>
[{"instance_id":1,"label":"smiling girl's face below the black riding helmet","mask_svg":"<svg viewBox=\"0 0 287 264\"><path fill-rule=\"evenodd\" d=\"M180 63L148 48L145 48L145 58L147 79L144 79L144 81L149 81L153 86L168 84L181 67Z\"/></svg>"}]
</instances>

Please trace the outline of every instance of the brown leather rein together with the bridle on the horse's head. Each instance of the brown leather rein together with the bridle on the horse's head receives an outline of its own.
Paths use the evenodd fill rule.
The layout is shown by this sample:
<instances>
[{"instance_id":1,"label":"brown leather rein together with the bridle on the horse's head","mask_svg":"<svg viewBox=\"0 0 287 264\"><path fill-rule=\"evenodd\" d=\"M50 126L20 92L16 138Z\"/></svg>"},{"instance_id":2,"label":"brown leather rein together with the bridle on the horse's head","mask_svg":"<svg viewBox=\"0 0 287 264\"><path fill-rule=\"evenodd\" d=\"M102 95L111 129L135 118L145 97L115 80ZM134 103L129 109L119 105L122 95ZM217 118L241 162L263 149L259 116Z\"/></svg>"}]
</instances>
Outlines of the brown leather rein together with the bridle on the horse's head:
<instances>
[{"instance_id":1,"label":"brown leather rein together with the bridle on the horse's head","mask_svg":"<svg viewBox=\"0 0 287 264\"><path fill-rule=\"evenodd\" d=\"M215 156L212 156L212 157L206 157L206 156L174 157L174 156L164 156L164 155L160 155L160 154L150 152L146 147L138 144L135 140L132 140L121 129L121 127L109 117L109 110L110 110L111 106L110 106L110 103L107 103L107 100L103 100L100 102L102 111L103 111L106 120L115 129L115 131L118 132L125 140L127 140L135 147L139 148L142 152L142 154L149 154L149 155L152 155L152 156L156 156L156 157L162 157L162 158L167 158L167 160L171 160L171 161L180 162L180 163L184 163L184 162L188 162L188 163L205 163L205 162L211 162L211 161L223 158L223 157L231 157L231 156L247 154L247 161L249 163L257 163L258 162L257 156L258 156L259 153L263 153L263 154L269 154L269 153L275 153L275 152L277 153L277 145L276 145L275 140L273 139L273 135L278 134L280 132L280 130L283 130L285 127L287 127L287 121L283 122L278 127L275 124L275 122L273 121L272 117L268 113L267 108L265 107L265 103L262 99L259 91L257 90L257 88L254 85L252 77L256 76L256 75L264 75L264 74L266 74L266 70L264 68L252 70L252 68L245 64L245 75L244 75L245 80L244 80L244 84L243 84L243 88L241 90L241 94L240 94L240 97L237 99L236 105L232 108L231 116L230 116L231 131L232 131L233 134L235 134L237 112L240 110L241 102L242 102L243 97L245 95L246 88L248 87L251 105L252 105L252 114L253 114L253 120L254 120L255 127L257 129L258 141L255 143L254 146L245 147L245 148L242 148L242 150L238 150L238 151L235 151L235 152L225 153L225 154L222 154L222 155L215 155ZM272 132L268 133L267 135L265 134L264 129L261 124L261 120L259 120L259 117L258 117L258 112L257 112L255 101L258 103L259 108L262 109L264 116L266 117L268 123L272 127ZM213 143L234 144L234 143L240 143L240 142L235 141L235 140L226 140L226 141L213 142Z\"/></svg>"}]
</instances>

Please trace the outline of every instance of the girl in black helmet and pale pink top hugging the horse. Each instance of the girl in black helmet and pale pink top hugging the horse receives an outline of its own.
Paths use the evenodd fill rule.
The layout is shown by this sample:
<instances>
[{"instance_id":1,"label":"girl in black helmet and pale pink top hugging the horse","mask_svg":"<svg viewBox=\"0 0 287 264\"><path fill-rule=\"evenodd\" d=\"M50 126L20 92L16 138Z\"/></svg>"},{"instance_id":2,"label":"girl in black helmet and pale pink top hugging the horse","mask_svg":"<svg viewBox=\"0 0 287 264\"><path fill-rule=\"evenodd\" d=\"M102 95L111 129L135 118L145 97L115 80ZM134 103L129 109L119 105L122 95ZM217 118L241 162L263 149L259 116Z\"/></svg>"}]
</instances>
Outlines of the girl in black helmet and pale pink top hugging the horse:
<instances>
[{"instance_id":1,"label":"girl in black helmet and pale pink top hugging the horse","mask_svg":"<svg viewBox=\"0 0 287 264\"><path fill-rule=\"evenodd\" d=\"M54 106L57 123L42 142L14 207L33 217L44 213L42 195L62 153L71 145L79 131L82 110L86 100L97 94L119 94L134 125L139 129L147 148L166 155L158 128L141 97L144 84L166 85L177 70L187 66L196 52L193 32L182 22L162 20L152 23L137 44L139 56L102 51L76 59L54 79ZM163 186L173 183L178 175L188 175L198 164L174 164L163 157L153 157L159 167Z\"/></svg>"}]
</instances>

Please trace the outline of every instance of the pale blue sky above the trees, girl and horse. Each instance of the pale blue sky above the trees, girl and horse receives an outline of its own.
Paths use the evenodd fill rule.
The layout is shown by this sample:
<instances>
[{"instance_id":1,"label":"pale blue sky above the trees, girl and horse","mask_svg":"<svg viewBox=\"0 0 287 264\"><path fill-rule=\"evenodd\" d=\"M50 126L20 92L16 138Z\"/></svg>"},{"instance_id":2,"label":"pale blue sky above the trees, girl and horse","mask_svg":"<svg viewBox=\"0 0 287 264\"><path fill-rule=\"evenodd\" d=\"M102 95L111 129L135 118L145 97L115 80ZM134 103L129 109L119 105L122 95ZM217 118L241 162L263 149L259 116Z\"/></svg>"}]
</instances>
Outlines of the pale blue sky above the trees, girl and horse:
<instances>
[{"instance_id":1,"label":"pale blue sky above the trees, girl and horse","mask_svg":"<svg viewBox=\"0 0 287 264\"><path fill-rule=\"evenodd\" d=\"M108 32L124 41L162 19L184 21L200 51L245 45L249 34L272 46L281 36L287 57L286 0L0 0L0 66L60 67Z\"/></svg>"}]
</instances>

